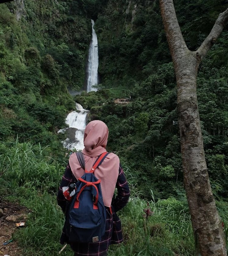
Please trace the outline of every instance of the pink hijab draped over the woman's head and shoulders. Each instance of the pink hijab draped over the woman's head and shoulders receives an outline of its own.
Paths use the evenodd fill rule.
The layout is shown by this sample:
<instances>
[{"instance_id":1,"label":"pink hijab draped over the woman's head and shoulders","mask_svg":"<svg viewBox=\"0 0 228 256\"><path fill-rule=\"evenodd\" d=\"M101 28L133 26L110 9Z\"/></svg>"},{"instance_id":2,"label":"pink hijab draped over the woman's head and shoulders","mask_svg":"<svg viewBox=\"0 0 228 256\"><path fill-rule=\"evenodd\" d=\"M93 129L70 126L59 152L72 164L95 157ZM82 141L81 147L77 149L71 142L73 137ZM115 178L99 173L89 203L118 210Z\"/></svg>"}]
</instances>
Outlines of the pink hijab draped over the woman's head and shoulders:
<instances>
[{"instance_id":1,"label":"pink hijab draped over the woman's head and shoulders","mask_svg":"<svg viewBox=\"0 0 228 256\"><path fill-rule=\"evenodd\" d=\"M94 120L86 126L82 154L85 159L85 168L90 171L100 154L106 152L108 142L108 127L100 120ZM78 162L76 154L70 155L70 168L75 178L80 178L85 171ZM104 205L111 206L112 197L119 174L120 160L114 153L108 154L102 164L96 168L94 175L100 180Z\"/></svg>"}]
</instances>

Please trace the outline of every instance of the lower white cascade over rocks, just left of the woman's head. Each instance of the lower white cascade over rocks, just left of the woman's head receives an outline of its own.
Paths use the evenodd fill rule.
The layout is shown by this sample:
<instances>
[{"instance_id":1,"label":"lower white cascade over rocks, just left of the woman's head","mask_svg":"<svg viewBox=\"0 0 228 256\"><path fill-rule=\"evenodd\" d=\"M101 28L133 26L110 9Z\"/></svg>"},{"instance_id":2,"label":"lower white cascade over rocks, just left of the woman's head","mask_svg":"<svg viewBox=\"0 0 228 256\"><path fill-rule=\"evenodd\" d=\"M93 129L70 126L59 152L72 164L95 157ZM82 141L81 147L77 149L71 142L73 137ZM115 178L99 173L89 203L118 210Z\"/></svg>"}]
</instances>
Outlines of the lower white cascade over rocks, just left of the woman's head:
<instances>
[{"instance_id":1,"label":"lower white cascade over rocks, just left of the woman's head","mask_svg":"<svg viewBox=\"0 0 228 256\"><path fill-rule=\"evenodd\" d=\"M66 118L69 128L59 130L58 133L67 134L67 139L62 141L64 148L69 150L82 150L84 148L84 131L86 128L86 116L89 110L85 110L80 104L76 103L77 111L72 111Z\"/></svg>"}]
</instances>

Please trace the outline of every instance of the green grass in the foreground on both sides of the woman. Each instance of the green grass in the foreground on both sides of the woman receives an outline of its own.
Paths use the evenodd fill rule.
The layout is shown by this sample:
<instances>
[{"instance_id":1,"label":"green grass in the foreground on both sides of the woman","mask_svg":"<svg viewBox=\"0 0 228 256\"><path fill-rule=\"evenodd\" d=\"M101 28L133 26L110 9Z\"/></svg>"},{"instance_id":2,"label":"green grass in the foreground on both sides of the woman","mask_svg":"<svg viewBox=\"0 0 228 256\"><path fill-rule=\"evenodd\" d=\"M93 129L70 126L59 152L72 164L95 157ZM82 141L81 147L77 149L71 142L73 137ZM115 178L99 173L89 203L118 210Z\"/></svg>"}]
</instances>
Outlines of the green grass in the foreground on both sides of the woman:
<instances>
[{"instance_id":1,"label":"green grass in the foreground on both sides of the woman","mask_svg":"<svg viewBox=\"0 0 228 256\"><path fill-rule=\"evenodd\" d=\"M6 155L0 156L0 180L3 184L0 190L3 192L6 187L13 191L8 200L16 200L32 210L26 227L14 234L24 248L23 256L56 256L61 248L59 238L64 216L56 204L56 191L64 168L50 161L45 150L40 145L17 142ZM127 206L118 212L124 242L110 246L108 256L196 256L186 200L168 198L146 202L141 199L142 194L127 168L125 173L131 197ZM151 197L154 198L152 191ZM145 218L144 209L148 207L154 213ZM226 235L227 209L227 203L218 202ZM69 246L62 255L73 255Z\"/></svg>"}]
</instances>

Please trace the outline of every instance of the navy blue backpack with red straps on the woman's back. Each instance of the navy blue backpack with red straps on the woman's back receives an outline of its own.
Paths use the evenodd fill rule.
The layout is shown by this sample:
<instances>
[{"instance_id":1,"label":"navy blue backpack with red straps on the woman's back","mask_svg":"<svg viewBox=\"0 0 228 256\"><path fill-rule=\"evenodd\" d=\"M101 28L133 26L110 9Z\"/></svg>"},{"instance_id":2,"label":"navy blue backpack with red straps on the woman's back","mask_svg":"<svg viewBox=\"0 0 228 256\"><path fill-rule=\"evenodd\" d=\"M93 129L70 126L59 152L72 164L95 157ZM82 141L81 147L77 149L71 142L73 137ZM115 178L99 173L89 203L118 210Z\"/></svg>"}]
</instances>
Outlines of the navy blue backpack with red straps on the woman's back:
<instances>
[{"instance_id":1,"label":"navy blue backpack with red straps on the woman's back","mask_svg":"<svg viewBox=\"0 0 228 256\"><path fill-rule=\"evenodd\" d=\"M100 180L93 173L108 154L101 154L88 172L85 170L83 154L76 153L85 174L78 179L76 193L66 212L66 235L70 243L99 242L104 235L106 208L102 199Z\"/></svg>"}]
</instances>

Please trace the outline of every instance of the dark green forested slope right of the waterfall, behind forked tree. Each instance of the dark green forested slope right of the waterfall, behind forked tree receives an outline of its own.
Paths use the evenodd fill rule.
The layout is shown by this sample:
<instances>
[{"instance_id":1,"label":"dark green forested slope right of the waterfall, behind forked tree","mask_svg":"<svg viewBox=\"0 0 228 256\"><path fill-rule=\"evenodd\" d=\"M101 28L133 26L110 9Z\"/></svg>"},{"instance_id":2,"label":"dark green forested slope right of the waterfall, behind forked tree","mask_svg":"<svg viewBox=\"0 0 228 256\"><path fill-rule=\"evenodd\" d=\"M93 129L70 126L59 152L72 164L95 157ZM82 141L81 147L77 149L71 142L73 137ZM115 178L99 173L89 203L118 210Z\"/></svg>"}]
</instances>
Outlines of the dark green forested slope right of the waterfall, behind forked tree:
<instances>
[{"instance_id":1,"label":"dark green forested slope right of the waterfall, behind forked tree","mask_svg":"<svg viewBox=\"0 0 228 256\"><path fill-rule=\"evenodd\" d=\"M191 50L200 46L219 12L224 10L224 3L220 2L218 8L218 2L214 1L210 4L176 1L177 17ZM152 189L158 198L180 193L182 196L175 74L158 2L127 4L123 1L122 6L108 2L106 12L98 15L96 21L103 89L76 96L75 100L91 109L91 119L106 122L110 129L110 149L118 151L134 172L145 195ZM226 35L225 30L198 74L198 102L208 170L216 196L223 197L228 188ZM115 105L115 96L131 96L132 102Z\"/></svg>"}]
</instances>

